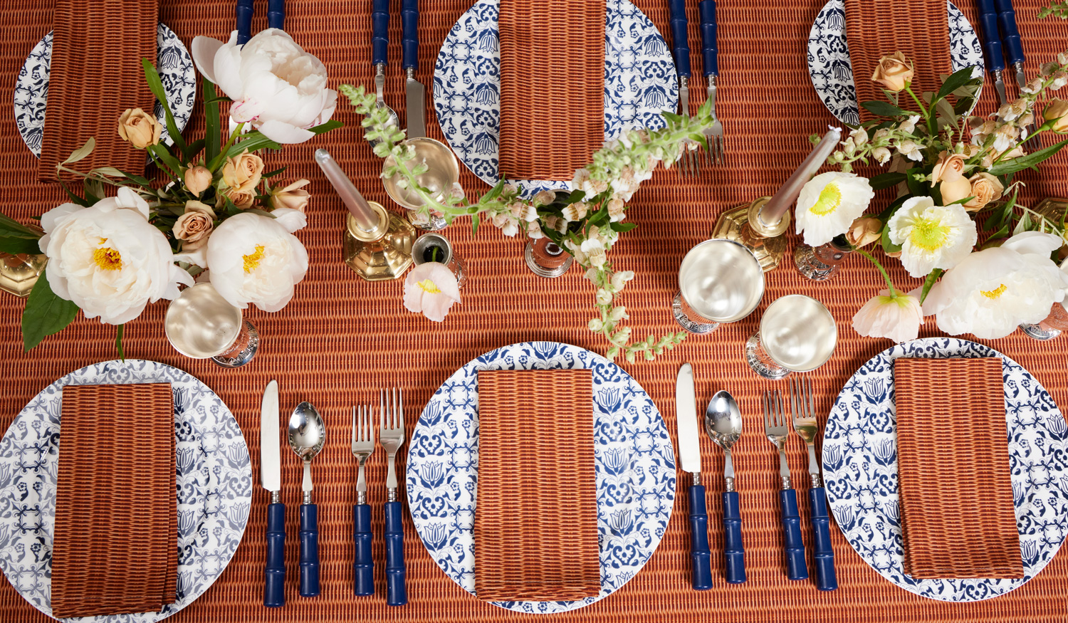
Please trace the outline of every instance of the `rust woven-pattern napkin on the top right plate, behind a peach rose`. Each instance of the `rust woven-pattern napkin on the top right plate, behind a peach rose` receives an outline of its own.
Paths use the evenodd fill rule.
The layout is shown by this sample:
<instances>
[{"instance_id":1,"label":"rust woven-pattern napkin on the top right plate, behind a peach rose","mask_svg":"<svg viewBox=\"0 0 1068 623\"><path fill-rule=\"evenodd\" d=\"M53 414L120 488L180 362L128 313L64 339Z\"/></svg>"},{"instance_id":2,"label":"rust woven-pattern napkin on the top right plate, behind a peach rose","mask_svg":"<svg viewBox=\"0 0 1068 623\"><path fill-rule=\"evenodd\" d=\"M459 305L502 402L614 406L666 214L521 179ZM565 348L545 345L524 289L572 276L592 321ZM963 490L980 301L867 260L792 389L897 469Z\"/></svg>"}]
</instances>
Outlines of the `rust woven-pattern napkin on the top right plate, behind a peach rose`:
<instances>
[{"instance_id":1,"label":"rust woven-pattern napkin on the top right plate, behind a peach rose","mask_svg":"<svg viewBox=\"0 0 1068 623\"><path fill-rule=\"evenodd\" d=\"M912 92L917 97L939 90L940 74L953 73L945 0L846 0L846 41L861 120L871 116L861 104L886 98L882 88L871 81L880 58L900 50L912 60ZM912 102L908 93L900 97L902 105Z\"/></svg>"}]
</instances>

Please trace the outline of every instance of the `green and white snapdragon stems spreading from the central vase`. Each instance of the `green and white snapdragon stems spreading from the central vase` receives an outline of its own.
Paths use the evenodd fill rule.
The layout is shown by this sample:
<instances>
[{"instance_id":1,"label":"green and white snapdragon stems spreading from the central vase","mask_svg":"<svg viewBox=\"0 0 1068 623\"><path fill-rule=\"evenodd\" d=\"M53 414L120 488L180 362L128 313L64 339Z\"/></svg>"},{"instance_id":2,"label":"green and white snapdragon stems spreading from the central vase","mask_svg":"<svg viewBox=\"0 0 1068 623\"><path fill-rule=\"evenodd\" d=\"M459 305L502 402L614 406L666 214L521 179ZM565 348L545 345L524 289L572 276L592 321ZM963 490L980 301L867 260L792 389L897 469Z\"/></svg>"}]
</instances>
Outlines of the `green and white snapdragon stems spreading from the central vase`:
<instances>
[{"instance_id":1,"label":"green and white snapdragon stems spreading from the central vase","mask_svg":"<svg viewBox=\"0 0 1068 623\"><path fill-rule=\"evenodd\" d=\"M635 227L624 222L627 202L641 183L651 177L653 170L658 165L670 168L686 150L708 147L704 130L713 121L708 103L692 118L664 112L665 127L631 129L609 141L594 153L590 165L575 172L570 192L546 190L523 199L519 187L502 180L477 201L470 202L458 185L449 192L438 193L419 185L418 176L426 171L426 165L415 161L414 150L404 142L405 131L390 122L389 111L375 106L374 94L368 94L362 85L342 84L339 91L363 115L364 138L374 145L375 155L392 156L393 163L382 171L382 177L395 178L400 188L419 194L423 206L418 212L423 219L433 215L451 223L456 217L470 216L472 231L477 231L481 215L485 215L507 236L521 231L532 239L548 237L570 253L586 269L585 278L596 289L597 312L588 327L609 342L606 353L609 359L623 356L629 362L638 357L651 360L686 338L686 332L679 331L631 341L631 328L621 326L628 317L627 308L616 305L616 298L634 272L615 270L608 252L619 234ZM406 289L405 305L418 311L409 305L409 291ZM411 296L414 300L414 294ZM425 310L425 303L422 309ZM444 311L447 312L447 307ZM440 317L427 315L431 320L444 317L444 313Z\"/></svg>"}]
</instances>

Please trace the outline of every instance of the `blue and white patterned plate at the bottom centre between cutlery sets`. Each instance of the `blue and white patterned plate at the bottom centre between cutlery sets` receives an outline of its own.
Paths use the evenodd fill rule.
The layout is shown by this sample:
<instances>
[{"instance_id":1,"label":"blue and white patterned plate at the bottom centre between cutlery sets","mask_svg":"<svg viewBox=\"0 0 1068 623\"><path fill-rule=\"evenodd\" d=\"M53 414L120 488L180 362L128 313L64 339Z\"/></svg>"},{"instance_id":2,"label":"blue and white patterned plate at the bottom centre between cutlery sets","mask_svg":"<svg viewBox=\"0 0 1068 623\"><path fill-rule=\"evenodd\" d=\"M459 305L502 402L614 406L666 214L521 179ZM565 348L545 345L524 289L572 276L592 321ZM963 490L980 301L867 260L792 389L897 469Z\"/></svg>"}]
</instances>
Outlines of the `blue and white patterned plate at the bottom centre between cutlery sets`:
<instances>
[{"instance_id":1,"label":"blue and white patterned plate at the bottom centre between cutlery sets","mask_svg":"<svg viewBox=\"0 0 1068 623\"><path fill-rule=\"evenodd\" d=\"M593 370L597 530L601 590L577 602L492 602L517 612L588 606L634 577L668 529L675 503L675 450L653 400L618 365L578 346L527 342L490 351L434 393L408 447L408 507L430 558L474 591L478 490L480 370Z\"/></svg>"}]
</instances>

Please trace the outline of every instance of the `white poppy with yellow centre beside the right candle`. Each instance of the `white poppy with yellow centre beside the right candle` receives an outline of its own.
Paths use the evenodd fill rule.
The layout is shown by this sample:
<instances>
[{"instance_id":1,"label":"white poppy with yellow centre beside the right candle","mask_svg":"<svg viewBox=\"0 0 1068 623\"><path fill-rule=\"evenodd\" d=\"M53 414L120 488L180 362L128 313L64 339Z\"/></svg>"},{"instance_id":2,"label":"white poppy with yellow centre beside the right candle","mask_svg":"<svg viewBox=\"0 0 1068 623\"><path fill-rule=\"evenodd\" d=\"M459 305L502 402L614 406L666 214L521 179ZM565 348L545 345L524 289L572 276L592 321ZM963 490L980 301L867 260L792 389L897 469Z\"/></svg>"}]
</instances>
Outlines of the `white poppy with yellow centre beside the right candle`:
<instances>
[{"instance_id":1,"label":"white poppy with yellow centre beside the right candle","mask_svg":"<svg viewBox=\"0 0 1068 623\"><path fill-rule=\"evenodd\" d=\"M801 188L797 206L797 233L806 245L818 247L849 231L875 197L867 178L853 173L820 173Z\"/></svg>"}]
</instances>

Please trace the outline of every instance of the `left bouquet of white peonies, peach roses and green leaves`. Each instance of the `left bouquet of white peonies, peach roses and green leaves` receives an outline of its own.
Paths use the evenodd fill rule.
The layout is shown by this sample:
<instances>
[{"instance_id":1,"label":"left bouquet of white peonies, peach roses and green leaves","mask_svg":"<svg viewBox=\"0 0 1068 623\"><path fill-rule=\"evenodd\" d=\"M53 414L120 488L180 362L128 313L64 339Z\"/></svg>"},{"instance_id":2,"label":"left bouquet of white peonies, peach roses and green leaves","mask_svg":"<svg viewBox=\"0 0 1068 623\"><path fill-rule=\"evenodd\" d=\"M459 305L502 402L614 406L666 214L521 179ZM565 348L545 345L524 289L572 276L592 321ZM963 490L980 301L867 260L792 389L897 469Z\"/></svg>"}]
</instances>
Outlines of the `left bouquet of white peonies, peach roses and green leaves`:
<instances>
[{"instance_id":1,"label":"left bouquet of white peonies, peach roses and green leaves","mask_svg":"<svg viewBox=\"0 0 1068 623\"><path fill-rule=\"evenodd\" d=\"M76 170L93 150L90 139L58 166L61 180L81 180L81 192L63 184L70 201L41 217L43 233L0 215L0 251L48 256L22 313L27 351L80 309L119 327L122 355L123 325L194 278L241 309L252 303L273 312L293 298L308 270L308 253L293 235L307 224L308 181L276 181L284 169L264 171L257 152L339 127L330 121L337 93L326 88L323 63L285 32L265 30L244 46L236 41L236 31L226 44L193 40L206 131L191 142L174 123L159 74L142 60L173 142L161 142L162 125L139 108L120 116L117 131L146 152L162 183L113 167ZM223 102L232 103L225 140ZM113 197L108 187L116 189Z\"/></svg>"}]
</instances>

